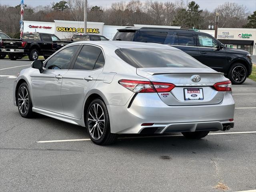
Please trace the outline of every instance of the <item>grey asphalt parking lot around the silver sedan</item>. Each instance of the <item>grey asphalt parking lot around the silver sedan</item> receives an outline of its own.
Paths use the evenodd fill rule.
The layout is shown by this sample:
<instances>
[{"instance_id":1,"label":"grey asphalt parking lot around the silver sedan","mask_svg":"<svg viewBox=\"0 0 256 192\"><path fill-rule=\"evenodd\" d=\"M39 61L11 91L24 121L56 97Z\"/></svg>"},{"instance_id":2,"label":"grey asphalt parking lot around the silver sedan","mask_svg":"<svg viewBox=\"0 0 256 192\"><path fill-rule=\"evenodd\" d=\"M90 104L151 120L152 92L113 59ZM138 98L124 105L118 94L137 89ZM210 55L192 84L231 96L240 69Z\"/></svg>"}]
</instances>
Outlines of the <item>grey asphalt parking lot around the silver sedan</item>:
<instances>
[{"instance_id":1,"label":"grey asphalt parking lot around the silver sedan","mask_svg":"<svg viewBox=\"0 0 256 192\"><path fill-rule=\"evenodd\" d=\"M229 131L200 140L126 135L114 145L97 146L83 127L19 115L12 104L13 81L30 63L0 60L0 191L256 189L256 82L233 86L235 127Z\"/></svg>"}]
</instances>

